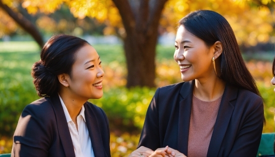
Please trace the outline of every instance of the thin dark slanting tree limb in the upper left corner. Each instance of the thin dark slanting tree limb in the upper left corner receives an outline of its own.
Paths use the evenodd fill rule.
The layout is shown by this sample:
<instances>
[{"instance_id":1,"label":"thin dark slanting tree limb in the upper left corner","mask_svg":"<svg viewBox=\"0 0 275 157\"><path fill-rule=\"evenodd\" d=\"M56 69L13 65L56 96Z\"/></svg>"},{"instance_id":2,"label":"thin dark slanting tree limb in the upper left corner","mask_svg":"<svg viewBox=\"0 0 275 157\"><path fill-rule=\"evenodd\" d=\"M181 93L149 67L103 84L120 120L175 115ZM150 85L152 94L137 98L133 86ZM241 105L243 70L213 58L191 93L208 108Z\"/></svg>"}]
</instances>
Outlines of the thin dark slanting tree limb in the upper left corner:
<instances>
[{"instance_id":1,"label":"thin dark slanting tree limb in the upper left corner","mask_svg":"<svg viewBox=\"0 0 275 157\"><path fill-rule=\"evenodd\" d=\"M20 25L26 32L28 32L34 40L38 43L38 45L42 48L44 41L42 35L36 28L34 24L32 24L27 18L25 18L22 14L18 12L14 12L11 8L9 8L6 4L3 4L0 0L0 7L18 24Z\"/></svg>"}]
</instances>

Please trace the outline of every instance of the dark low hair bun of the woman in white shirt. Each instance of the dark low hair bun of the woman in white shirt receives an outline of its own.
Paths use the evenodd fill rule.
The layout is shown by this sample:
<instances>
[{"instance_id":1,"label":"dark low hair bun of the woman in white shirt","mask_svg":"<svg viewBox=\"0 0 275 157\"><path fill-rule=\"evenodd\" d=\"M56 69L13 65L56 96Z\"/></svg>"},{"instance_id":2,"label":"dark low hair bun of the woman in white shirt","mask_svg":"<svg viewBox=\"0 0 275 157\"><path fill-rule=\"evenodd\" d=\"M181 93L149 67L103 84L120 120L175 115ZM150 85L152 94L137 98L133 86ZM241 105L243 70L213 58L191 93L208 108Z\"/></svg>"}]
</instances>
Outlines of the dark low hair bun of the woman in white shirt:
<instances>
[{"instance_id":1,"label":"dark low hair bun of the woman in white shirt","mask_svg":"<svg viewBox=\"0 0 275 157\"><path fill-rule=\"evenodd\" d=\"M54 75L49 68L45 67L41 60L32 65L31 76L34 78L33 84L38 96L50 96L56 91L58 87L56 83L57 75Z\"/></svg>"}]
</instances>

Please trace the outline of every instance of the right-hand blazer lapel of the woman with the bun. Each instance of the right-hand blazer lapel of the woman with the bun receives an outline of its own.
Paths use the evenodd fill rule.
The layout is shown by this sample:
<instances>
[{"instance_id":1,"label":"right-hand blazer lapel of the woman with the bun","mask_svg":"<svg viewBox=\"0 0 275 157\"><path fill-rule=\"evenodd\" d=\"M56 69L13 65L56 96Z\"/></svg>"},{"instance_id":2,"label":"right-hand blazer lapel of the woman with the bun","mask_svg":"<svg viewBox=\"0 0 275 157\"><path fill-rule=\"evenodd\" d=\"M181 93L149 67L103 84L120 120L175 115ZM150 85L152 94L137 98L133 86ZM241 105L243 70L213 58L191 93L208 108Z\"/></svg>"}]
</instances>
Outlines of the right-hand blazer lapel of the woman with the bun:
<instances>
[{"instance_id":1,"label":"right-hand blazer lapel of the woman with the bun","mask_svg":"<svg viewBox=\"0 0 275 157\"><path fill-rule=\"evenodd\" d=\"M84 107L86 125L88 128L94 156L106 156L101 139L101 132L96 119L96 114L87 102L84 104Z\"/></svg>"}]
</instances>

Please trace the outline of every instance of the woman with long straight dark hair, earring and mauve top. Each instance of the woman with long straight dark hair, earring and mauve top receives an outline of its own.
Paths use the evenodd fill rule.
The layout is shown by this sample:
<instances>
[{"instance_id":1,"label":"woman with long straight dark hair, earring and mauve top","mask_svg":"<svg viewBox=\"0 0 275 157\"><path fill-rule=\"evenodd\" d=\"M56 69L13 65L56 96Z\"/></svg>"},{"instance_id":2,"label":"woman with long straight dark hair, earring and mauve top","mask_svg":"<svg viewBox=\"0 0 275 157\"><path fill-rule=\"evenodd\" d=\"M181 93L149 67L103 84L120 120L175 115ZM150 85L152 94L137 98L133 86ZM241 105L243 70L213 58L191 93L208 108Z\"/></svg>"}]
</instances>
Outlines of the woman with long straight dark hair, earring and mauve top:
<instances>
[{"instance_id":1,"label":"woman with long straight dark hair, earring and mauve top","mask_svg":"<svg viewBox=\"0 0 275 157\"><path fill-rule=\"evenodd\" d=\"M183 82L156 89L129 156L256 156L263 102L227 20L188 13L173 57Z\"/></svg>"}]
</instances>

